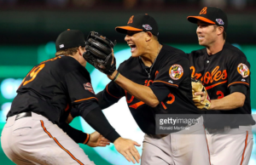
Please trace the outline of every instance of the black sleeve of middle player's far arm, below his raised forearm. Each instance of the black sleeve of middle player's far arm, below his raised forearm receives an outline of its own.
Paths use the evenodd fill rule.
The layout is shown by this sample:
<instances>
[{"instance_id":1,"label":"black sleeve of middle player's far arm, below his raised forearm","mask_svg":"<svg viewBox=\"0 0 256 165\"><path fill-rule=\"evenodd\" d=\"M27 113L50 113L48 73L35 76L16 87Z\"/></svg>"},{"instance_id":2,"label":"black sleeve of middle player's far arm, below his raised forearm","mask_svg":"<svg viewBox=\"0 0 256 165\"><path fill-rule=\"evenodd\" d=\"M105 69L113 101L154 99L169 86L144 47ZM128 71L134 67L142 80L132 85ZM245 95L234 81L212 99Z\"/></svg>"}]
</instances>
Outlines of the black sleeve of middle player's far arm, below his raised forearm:
<instances>
[{"instance_id":1,"label":"black sleeve of middle player's far arm, below his raised forearm","mask_svg":"<svg viewBox=\"0 0 256 165\"><path fill-rule=\"evenodd\" d=\"M118 102L124 95L125 90L123 88L120 88L119 85L114 82L110 82L102 92L96 94L96 98L103 110Z\"/></svg>"}]
</instances>

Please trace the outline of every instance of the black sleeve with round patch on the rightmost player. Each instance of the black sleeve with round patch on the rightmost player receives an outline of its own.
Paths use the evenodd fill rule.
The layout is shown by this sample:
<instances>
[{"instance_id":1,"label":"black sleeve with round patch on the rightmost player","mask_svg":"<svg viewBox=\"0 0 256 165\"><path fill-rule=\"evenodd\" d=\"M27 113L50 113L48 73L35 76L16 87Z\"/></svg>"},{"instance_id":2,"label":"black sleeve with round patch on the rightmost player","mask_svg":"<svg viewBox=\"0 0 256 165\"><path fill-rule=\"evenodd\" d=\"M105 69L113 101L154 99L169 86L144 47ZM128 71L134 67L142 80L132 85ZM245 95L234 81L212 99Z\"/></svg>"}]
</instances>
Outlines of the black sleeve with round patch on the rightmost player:
<instances>
[{"instance_id":1,"label":"black sleeve with round patch on the rightmost player","mask_svg":"<svg viewBox=\"0 0 256 165\"><path fill-rule=\"evenodd\" d=\"M228 64L228 87L232 85L245 85L250 87L250 64L242 54L232 58Z\"/></svg>"}]
</instances>

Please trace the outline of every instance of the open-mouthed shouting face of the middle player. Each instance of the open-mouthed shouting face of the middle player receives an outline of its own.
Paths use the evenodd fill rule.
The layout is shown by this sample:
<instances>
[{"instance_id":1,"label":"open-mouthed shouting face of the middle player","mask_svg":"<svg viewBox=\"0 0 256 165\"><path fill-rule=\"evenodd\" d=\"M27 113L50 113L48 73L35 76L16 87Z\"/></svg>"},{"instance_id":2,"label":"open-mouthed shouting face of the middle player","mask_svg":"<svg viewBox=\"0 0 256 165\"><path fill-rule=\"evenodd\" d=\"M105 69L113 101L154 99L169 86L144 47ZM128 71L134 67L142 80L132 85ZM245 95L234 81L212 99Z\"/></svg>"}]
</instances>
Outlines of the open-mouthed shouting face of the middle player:
<instances>
[{"instance_id":1,"label":"open-mouthed shouting face of the middle player","mask_svg":"<svg viewBox=\"0 0 256 165\"><path fill-rule=\"evenodd\" d=\"M147 49L147 32L127 31L125 42L131 47L131 57L145 54Z\"/></svg>"}]
</instances>

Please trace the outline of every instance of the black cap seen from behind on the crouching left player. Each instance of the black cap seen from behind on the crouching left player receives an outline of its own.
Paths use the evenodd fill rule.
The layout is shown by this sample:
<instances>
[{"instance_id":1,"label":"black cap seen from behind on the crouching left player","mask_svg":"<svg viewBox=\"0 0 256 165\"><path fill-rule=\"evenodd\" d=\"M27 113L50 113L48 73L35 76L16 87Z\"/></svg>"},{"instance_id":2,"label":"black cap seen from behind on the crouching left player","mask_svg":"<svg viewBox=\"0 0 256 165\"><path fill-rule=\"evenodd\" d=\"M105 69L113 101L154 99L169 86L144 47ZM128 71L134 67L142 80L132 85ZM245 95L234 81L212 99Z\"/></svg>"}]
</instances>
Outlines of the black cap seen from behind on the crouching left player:
<instances>
[{"instance_id":1,"label":"black cap seen from behind on the crouching left player","mask_svg":"<svg viewBox=\"0 0 256 165\"><path fill-rule=\"evenodd\" d=\"M85 47L84 33L79 30L69 30L61 32L55 42L56 51L67 48Z\"/></svg>"}]
</instances>

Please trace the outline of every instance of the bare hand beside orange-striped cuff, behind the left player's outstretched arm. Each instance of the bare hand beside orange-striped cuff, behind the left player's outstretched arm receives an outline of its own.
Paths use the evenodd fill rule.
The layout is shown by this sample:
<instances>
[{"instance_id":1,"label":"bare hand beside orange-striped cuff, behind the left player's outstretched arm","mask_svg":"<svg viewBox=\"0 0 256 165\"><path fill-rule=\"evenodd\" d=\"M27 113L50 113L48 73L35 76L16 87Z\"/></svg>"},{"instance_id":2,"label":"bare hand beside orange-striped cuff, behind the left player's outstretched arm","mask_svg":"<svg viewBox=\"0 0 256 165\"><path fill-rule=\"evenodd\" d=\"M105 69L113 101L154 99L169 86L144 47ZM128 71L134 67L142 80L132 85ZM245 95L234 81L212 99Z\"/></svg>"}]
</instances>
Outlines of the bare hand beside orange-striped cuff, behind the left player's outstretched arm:
<instances>
[{"instance_id":1,"label":"bare hand beside orange-striped cuff, behind the left player's outstretched arm","mask_svg":"<svg viewBox=\"0 0 256 165\"><path fill-rule=\"evenodd\" d=\"M108 139L105 139L102 134L99 134L98 132L94 132L90 134L90 139L87 143L90 147L96 147L96 146L107 146L110 144L110 141Z\"/></svg>"}]
</instances>

